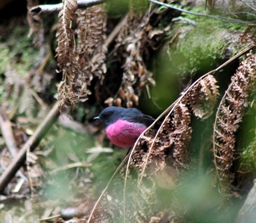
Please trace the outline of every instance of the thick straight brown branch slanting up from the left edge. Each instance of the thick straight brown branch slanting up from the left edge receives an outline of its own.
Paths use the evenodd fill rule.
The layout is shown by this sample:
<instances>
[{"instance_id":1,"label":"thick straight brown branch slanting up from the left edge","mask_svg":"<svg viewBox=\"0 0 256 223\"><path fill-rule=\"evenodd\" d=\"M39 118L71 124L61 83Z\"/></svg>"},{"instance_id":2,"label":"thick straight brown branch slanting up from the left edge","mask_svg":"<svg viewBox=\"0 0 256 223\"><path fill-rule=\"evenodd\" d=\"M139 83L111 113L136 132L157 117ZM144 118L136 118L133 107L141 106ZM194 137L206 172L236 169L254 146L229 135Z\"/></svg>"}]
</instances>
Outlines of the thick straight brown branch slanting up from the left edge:
<instances>
[{"instance_id":1,"label":"thick straight brown branch slanting up from the left edge","mask_svg":"<svg viewBox=\"0 0 256 223\"><path fill-rule=\"evenodd\" d=\"M0 191L2 191L5 186L7 186L11 179L13 179L15 173L17 173L21 165L23 165L23 163L25 162L27 150L33 151L35 147L39 145L39 142L45 136L51 125L53 125L53 122L55 122L58 115L59 109L58 103L56 103L45 118L45 120L41 123L41 125L39 125L34 135L29 138L25 145L23 145L17 156L13 159L11 164L0 176Z\"/></svg>"}]
</instances>

